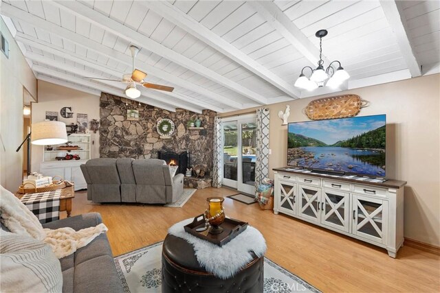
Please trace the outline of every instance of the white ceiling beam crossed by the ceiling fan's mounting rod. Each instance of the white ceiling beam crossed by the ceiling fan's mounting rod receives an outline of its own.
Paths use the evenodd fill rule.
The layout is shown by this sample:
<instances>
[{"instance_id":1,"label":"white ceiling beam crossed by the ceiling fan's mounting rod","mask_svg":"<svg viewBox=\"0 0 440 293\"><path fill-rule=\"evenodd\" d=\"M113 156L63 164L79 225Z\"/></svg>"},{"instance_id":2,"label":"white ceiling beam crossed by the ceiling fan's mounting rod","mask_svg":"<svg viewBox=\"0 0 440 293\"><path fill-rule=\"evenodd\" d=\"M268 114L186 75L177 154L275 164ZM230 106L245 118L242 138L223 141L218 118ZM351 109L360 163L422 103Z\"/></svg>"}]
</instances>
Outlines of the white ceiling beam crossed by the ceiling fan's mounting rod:
<instances>
[{"instance_id":1,"label":"white ceiling beam crossed by the ceiling fan's mounting rod","mask_svg":"<svg viewBox=\"0 0 440 293\"><path fill-rule=\"evenodd\" d=\"M66 38L76 43L76 45L85 47L88 50L95 51L96 53L107 56L108 58L111 58L117 62L122 62L126 65L131 66L132 63L131 56L115 51L94 40L86 38L85 36L81 36L80 34L76 34L70 30L65 29L64 27L60 27L54 23L51 23L50 21L45 21L44 19L41 19L38 16L20 10L19 8L16 8L8 3L2 2L1 14L4 14L5 16L9 16L12 19L19 19L20 21L29 23L34 27L39 27L42 30L50 32L51 34L56 34L61 38ZM243 104L236 102L233 99L230 99L218 93L214 93L212 91L209 91L208 89L204 89L202 86L188 82L187 80L184 80L175 75L167 73L166 71L163 71L161 69L157 69L153 66L147 65L146 63L139 65L138 69L145 71L146 73L151 74L157 78L167 80L172 84L176 84L177 86L181 86L184 89L188 89L190 91L203 95L204 97L208 97L209 99L213 99L214 101L220 102L221 104L228 106L228 108L232 108L232 109L243 108Z\"/></svg>"}]
</instances>

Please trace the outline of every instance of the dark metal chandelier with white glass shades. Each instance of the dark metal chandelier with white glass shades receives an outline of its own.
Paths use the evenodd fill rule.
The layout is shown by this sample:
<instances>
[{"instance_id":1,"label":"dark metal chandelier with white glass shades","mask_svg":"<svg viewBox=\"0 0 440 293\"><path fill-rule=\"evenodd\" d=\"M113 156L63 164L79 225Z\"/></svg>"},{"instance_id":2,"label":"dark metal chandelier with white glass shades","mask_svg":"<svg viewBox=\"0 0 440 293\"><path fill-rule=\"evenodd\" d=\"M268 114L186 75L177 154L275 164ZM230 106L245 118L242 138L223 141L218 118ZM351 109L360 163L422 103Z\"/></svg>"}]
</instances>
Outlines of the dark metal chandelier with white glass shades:
<instances>
[{"instance_id":1,"label":"dark metal chandelier with white glass shades","mask_svg":"<svg viewBox=\"0 0 440 293\"><path fill-rule=\"evenodd\" d=\"M315 36L319 38L319 61L318 67L313 69L309 66L304 67L301 70L300 77L296 80L294 86L300 89L306 89L307 91L313 91L318 87L329 86L332 89L336 89L338 86L342 84L345 80L350 78L349 73L345 71L341 62L335 60L330 63L329 67L324 69L324 60L322 60L322 38L327 36L327 30L318 30ZM336 64L338 67L336 67ZM335 65L335 67L333 67ZM304 74L305 69L310 69L311 75L310 78L307 78ZM327 80L327 83L325 82Z\"/></svg>"}]
</instances>

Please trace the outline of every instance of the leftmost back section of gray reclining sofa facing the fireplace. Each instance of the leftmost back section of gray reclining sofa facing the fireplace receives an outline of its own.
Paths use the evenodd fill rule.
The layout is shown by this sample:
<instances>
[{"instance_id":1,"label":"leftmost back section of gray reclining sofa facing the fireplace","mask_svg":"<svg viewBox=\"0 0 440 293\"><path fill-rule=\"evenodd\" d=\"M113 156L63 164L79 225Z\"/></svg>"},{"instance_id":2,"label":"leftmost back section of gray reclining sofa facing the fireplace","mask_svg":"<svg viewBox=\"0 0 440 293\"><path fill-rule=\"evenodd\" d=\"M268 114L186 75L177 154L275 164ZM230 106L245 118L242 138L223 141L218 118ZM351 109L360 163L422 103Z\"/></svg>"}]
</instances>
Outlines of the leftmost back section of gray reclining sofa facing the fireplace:
<instances>
[{"instance_id":1,"label":"leftmost back section of gray reclining sofa facing the fireplace","mask_svg":"<svg viewBox=\"0 0 440 293\"><path fill-rule=\"evenodd\" d=\"M91 159L81 165L87 182L87 199L94 202L121 202L116 159Z\"/></svg>"}]
</instances>

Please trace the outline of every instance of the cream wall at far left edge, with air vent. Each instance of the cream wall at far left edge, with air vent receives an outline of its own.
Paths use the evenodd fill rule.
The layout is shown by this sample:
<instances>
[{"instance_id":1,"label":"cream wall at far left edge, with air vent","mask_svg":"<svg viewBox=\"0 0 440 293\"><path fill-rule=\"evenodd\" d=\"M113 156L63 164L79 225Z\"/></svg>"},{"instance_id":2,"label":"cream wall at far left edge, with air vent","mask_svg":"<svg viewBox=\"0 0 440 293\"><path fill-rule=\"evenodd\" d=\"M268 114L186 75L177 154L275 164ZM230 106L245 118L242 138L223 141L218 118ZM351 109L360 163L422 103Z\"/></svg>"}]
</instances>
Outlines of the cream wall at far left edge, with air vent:
<instances>
[{"instance_id":1,"label":"cream wall at far left edge, with air vent","mask_svg":"<svg viewBox=\"0 0 440 293\"><path fill-rule=\"evenodd\" d=\"M10 48L9 58L0 52L0 184L17 191L23 166L23 152L15 152L23 141L23 87L36 98L36 78L1 18L0 31Z\"/></svg>"}]
</instances>

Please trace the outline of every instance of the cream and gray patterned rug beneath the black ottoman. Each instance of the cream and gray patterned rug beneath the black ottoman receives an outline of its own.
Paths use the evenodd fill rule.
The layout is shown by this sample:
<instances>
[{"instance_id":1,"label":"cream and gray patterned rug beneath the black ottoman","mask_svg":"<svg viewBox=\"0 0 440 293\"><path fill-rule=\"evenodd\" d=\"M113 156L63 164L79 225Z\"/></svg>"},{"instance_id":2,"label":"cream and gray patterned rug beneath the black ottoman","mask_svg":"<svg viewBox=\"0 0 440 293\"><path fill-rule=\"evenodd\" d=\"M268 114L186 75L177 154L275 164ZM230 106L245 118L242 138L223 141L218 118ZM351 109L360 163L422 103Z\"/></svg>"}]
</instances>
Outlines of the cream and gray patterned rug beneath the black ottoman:
<instances>
[{"instance_id":1,"label":"cream and gray patterned rug beneath the black ottoman","mask_svg":"<svg viewBox=\"0 0 440 293\"><path fill-rule=\"evenodd\" d=\"M124 292L162 291L162 242L115 257ZM264 293L320 292L292 272L264 259Z\"/></svg>"}]
</instances>

